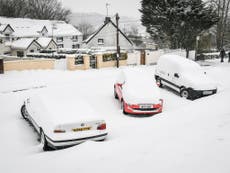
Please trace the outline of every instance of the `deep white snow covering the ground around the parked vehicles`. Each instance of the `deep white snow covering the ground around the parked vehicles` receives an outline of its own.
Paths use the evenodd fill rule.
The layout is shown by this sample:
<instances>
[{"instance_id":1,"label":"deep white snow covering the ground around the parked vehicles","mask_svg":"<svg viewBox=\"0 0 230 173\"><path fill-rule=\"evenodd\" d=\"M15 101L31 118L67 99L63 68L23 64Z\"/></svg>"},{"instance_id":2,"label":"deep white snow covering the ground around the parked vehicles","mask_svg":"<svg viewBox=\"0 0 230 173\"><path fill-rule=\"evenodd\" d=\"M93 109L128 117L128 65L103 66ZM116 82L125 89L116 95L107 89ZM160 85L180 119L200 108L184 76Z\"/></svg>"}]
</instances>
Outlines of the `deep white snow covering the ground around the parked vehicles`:
<instances>
[{"instance_id":1,"label":"deep white snow covering the ground around the parked vehicles","mask_svg":"<svg viewBox=\"0 0 230 173\"><path fill-rule=\"evenodd\" d=\"M0 75L0 172L229 173L230 64L209 64L203 68L218 83L217 94L189 101L160 89L163 113L143 118L124 115L114 99L120 69ZM128 68L154 75L154 66ZM20 106L44 90L83 96L106 120L107 140L43 152Z\"/></svg>"}]
</instances>

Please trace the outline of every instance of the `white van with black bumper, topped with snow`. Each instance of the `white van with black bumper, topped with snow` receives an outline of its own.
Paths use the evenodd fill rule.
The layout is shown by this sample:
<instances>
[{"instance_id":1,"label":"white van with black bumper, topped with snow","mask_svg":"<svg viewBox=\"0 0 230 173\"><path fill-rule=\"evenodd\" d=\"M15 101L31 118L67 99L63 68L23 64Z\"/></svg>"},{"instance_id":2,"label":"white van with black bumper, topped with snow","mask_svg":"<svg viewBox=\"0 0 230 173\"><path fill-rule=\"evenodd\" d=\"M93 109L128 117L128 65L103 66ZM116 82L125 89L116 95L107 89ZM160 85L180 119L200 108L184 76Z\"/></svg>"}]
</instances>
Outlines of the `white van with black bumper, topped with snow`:
<instances>
[{"instance_id":1,"label":"white van with black bumper, topped with snow","mask_svg":"<svg viewBox=\"0 0 230 173\"><path fill-rule=\"evenodd\" d=\"M216 83L199 64L178 55L163 55L159 58L155 79L159 87L168 86L187 99L193 100L217 92Z\"/></svg>"}]
</instances>

